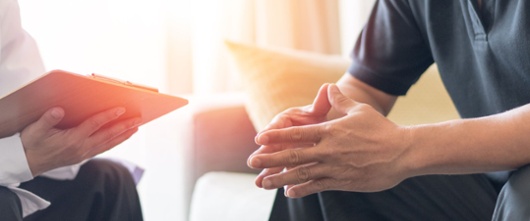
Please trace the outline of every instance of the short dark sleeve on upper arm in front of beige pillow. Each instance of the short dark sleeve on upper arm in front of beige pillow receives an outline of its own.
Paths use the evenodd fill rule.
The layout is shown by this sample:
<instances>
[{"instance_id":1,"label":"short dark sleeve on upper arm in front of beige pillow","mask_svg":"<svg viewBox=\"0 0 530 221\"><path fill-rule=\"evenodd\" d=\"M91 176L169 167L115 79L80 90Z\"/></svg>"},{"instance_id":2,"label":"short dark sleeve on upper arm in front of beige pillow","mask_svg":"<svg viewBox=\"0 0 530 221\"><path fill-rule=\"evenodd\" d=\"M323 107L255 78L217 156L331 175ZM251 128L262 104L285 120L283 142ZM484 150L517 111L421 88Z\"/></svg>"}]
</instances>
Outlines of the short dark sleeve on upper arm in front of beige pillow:
<instances>
[{"instance_id":1,"label":"short dark sleeve on upper arm in front of beige pillow","mask_svg":"<svg viewBox=\"0 0 530 221\"><path fill-rule=\"evenodd\" d=\"M392 95L406 94L433 63L408 3L400 0L375 3L351 58L351 75Z\"/></svg>"}]
</instances>

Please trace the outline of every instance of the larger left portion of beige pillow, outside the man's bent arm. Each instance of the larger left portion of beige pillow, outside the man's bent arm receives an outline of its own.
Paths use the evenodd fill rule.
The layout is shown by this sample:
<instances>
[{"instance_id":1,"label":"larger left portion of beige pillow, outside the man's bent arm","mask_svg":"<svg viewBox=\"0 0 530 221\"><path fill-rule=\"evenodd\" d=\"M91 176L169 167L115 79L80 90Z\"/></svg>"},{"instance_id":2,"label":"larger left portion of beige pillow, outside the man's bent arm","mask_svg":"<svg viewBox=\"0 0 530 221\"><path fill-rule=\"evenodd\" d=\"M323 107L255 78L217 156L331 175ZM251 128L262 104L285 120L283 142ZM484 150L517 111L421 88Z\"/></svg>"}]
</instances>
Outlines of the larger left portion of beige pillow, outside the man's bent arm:
<instances>
[{"instance_id":1,"label":"larger left portion of beige pillow, outside the man's bent arm","mask_svg":"<svg viewBox=\"0 0 530 221\"><path fill-rule=\"evenodd\" d=\"M230 41L226 45L247 93L245 107L257 131L281 111L311 104L320 86L339 80L349 65L339 56Z\"/></svg>"}]
</instances>

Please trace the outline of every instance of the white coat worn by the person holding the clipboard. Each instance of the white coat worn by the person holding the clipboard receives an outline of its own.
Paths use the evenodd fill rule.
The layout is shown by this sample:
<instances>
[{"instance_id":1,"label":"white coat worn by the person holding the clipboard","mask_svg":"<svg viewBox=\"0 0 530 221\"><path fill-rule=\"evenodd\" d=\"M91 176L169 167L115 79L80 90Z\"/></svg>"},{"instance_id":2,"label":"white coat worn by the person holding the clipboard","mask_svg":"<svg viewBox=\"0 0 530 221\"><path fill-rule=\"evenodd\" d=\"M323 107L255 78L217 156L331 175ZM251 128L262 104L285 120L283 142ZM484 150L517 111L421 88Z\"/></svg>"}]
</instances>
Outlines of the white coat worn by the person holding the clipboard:
<instances>
[{"instance_id":1,"label":"white coat worn by the person holding the clipboard","mask_svg":"<svg viewBox=\"0 0 530 221\"><path fill-rule=\"evenodd\" d=\"M35 41L20 23L16 0L0 0L0 97L44 74L45 69ZM2 113L0 113L2 114ZM73 179L79 165L58 168L42 176ZM19 134L0 138L0 185L13 190L20 198L23 216L49 206L49 202L17 188L33 179ZM2 199L0 199L2 200Z\"/></svg>"}]
</instances>

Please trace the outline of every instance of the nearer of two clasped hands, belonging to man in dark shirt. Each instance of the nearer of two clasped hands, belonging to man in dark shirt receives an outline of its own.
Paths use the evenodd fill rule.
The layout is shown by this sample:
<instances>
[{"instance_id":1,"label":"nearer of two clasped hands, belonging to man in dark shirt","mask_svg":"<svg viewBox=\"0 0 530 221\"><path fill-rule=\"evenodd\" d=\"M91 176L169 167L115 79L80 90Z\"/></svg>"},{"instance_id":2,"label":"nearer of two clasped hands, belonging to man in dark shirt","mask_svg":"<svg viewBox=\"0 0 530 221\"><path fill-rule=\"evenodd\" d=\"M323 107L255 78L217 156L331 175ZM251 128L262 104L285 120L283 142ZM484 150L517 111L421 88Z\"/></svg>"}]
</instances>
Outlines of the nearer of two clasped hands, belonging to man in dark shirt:
<instances>
[{"instance_id":1,"label":"nearer of two clasped hands, belonging to man in dark shirt","mask_svg":"<svg viewBox=\"0 0 530 221\"><path fill-rule=\"evenodd\" d=\"M345 116L260 133L261 148L275 151L252 155L249 166L288 169L264 175L259 186L286 186L286 196L303 197L325 190L381 191L412 176L410 130L344 96L336 85L327 89L329 103ZM297 146L303 147L288 148Z\"/></svg>"}]
</instances>

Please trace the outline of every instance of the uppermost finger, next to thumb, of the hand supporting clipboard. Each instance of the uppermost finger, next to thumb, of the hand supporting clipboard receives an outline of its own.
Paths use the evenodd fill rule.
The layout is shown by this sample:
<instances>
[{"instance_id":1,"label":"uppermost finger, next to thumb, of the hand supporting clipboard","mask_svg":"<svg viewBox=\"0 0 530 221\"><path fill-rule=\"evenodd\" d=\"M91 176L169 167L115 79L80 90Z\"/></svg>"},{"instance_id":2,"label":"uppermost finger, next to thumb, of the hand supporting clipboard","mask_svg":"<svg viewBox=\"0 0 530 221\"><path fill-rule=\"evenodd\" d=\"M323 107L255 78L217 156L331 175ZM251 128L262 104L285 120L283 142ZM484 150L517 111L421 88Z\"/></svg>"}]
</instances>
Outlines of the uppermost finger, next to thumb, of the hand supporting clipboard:
<instances>
[{"instance_id":1,"label":"uppermost finger, next to thumb, of the hand supporting clipboard","mask_svg":"<svg viewBox=\"0 0 530 221\"><path fill-rule=\"evenodd\" d=\"M103 125L117 119L125 113L125 108L117 107L110 110L106 110L102 113L96 114L85 121L79 126L75 127L74 130L81 137L88 137L94 132L98 131Z\"/></svg>"}]
</instances>

